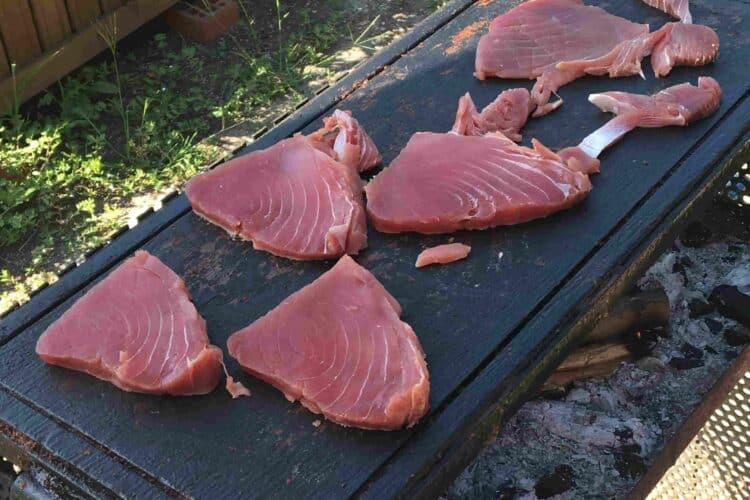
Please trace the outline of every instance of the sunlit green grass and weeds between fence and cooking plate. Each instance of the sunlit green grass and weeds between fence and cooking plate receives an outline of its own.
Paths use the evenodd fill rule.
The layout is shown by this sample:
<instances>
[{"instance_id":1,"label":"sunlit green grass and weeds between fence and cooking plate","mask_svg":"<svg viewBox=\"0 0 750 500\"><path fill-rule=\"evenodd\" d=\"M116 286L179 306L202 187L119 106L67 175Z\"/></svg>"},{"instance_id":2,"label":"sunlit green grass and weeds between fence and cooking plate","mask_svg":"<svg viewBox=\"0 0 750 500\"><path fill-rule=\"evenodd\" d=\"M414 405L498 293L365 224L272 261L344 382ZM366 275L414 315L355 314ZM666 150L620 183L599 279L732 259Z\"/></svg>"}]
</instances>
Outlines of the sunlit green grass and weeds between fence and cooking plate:
<instances>
[{"instance_id":1,"label":"sunlit green grass and weeds between fence and cooking plate","mask_svg":"<svg viewBox=\"0 0 750 500\"><path fill-rule=\"evenodd\" d=\"M276 5L282 28L288 14ZM296 15L297 29L270 50L249 15L212 45L175 47L157 34L159 61L146 68L123 59L102 29L108 61L60 81L25 113L0 116L0 310L107 241L134 198L180 185L219 154L199 139L299 99L305 67L325 65L344 22L336 9ZM217 58L221 71L207 67Z\"/></svg>"}]
</instances>

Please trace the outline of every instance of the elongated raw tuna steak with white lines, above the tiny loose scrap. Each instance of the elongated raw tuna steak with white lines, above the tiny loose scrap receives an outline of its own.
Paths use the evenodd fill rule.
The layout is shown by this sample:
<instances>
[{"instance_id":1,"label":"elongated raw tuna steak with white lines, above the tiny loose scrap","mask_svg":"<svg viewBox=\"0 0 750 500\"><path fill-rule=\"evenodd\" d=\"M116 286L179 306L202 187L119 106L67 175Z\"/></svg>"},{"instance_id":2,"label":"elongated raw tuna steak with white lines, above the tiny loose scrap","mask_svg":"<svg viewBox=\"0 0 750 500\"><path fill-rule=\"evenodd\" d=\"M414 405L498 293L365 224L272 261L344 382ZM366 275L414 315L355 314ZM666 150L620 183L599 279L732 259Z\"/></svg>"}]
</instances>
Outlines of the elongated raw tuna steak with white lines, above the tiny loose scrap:
<instances>
[{"instance_id":1,"label":"elongated raw tuna steak with white lines, above the tiny loose scrap","mask_svg":"<svg viewBox=\"0 0 750 500\"><path fill-rule=\"evenodd\" d=\"M590 190L586 173L541 145L432 132L414 134L365 188L379 231L426 234L519 224L568 208Z\"/></svg>"}]
</instances>

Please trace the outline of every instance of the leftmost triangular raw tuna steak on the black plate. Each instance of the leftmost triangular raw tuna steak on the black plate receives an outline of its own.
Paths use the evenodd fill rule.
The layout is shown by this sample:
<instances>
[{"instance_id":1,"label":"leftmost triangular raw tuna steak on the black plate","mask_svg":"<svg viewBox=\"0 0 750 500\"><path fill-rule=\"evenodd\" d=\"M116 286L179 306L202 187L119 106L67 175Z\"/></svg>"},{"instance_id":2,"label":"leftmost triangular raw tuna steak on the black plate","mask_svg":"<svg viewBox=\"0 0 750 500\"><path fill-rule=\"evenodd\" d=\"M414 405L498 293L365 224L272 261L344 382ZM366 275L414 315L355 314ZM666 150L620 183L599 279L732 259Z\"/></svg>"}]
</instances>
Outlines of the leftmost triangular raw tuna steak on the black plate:
<instances>
[{"instance_id":1,"label":"leftmost triangular raw tuna steak on the black plate","mask_svg":"<svg viewBox=\"0 0 750 500\"><path fill-rule=\"evenodd\" d=\"M126 391L206 394L221 378L221 349L210 344L185 283L144 251L78 299L36 352Z\"/></svg>"}]
</instances>

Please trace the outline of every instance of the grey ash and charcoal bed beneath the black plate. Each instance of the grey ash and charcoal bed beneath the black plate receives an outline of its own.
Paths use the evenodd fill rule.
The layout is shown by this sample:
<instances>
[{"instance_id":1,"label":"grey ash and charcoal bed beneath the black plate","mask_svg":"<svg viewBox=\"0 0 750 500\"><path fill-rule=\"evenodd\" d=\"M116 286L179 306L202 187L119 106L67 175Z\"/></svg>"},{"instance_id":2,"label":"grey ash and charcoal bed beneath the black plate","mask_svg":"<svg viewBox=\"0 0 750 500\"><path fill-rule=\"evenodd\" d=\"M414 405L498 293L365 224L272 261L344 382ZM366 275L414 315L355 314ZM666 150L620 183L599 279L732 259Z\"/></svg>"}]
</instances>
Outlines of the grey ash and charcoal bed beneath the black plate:
<instances>
[{"instance_id":1,"label":"grey ash and charcoal bed beneath the black plate","mask_svg":"<svg viewBox=\"0 0 750 500\"><path fill-rule=\"evenodd\" d=\"M733 236L706 241L712 237L705 226L692 226L681 238L638 283L667 292L670 335L609 378L575 382L559 400L524 404L445 497L628 494L750 341L746 327L709 303L717 285L750 288L750 245Z\"/></svg>"}]
</instances>

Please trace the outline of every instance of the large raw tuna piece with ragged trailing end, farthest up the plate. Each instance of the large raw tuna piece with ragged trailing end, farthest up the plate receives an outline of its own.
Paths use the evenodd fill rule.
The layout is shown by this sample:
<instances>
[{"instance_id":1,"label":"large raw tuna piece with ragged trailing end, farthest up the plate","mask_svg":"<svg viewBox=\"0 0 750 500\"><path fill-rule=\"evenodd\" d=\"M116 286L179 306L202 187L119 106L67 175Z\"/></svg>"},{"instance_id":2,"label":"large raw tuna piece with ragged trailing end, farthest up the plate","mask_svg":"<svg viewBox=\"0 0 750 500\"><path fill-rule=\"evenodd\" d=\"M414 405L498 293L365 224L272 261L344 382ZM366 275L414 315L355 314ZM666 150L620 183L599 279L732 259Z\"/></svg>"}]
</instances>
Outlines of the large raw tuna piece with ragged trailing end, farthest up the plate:
<instances>
[{"instance_id":1,"label":"large raw tuna piece with ragged trailing end, farthest up the plate","mask_svg":"<svg viewBox=\"0 0 750 500\"><path fill-rule=\"evenodd\" d=\"M669 36L674 24L682 28L677 36ZM713 61L718 39L708 40L704 31L710 28L691 26L669 23L649 33L646 24L632 23L581 0L530 0L492 21L489 33L479 40L474 74L479 79L535 79L533 116L542 116L562 104L561 99L550 102L552 94L584 75L642 75L641 60L659 42L661 55L679 54L669 59L669 68ZM688 39L691 49L686 52L683 45Z\"/></svg>"}]
</instances>

